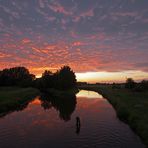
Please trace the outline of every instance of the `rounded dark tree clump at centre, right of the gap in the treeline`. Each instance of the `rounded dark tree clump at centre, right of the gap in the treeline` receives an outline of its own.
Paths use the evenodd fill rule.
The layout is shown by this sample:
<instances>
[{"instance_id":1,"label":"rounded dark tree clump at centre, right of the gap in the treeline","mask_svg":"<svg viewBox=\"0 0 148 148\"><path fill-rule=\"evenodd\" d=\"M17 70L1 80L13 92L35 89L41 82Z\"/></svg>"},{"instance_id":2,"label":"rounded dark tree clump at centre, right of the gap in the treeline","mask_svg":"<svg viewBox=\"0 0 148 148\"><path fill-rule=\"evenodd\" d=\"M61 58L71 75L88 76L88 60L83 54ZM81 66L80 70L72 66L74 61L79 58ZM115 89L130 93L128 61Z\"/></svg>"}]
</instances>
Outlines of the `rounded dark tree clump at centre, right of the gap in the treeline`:
<instances>
[{"instance_id":1,"label":"rounded dark tree clump at centre, right of the gap in the treeline","mask_svg":"<svg viewBox=\"0 0 148 148\"><path fill-rule=\"evenodd\" d=\"M34 86L40 90L46 88L68 90L76 87L76 76L69 66L63 66L55 73L45 70L42 77L34 81Z\"/></svg>"}]
</instances>

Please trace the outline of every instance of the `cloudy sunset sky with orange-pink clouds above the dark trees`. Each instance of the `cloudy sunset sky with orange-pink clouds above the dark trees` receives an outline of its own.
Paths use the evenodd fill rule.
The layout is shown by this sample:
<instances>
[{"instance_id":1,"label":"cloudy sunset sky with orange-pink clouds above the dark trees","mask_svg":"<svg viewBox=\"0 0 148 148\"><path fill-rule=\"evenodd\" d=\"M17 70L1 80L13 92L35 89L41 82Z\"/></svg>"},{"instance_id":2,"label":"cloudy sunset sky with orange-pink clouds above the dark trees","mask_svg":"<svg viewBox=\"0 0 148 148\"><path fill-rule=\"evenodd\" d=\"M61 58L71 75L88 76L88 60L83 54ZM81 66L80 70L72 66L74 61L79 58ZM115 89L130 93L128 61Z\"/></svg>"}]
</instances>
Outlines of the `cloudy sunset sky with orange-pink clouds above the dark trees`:
<instances>
[{"instance_id":1,"label":"cloudy sunset sky with orange-pink clouds above the dark trees","mask_svg":"<svg viewBox=\"0 0 148 148\"><path fill-rule=\"evenodd\" d=\"M148 0L0 0L0 69L63 65L78 81L147 79Z\"/></svg>"}]
</instances>

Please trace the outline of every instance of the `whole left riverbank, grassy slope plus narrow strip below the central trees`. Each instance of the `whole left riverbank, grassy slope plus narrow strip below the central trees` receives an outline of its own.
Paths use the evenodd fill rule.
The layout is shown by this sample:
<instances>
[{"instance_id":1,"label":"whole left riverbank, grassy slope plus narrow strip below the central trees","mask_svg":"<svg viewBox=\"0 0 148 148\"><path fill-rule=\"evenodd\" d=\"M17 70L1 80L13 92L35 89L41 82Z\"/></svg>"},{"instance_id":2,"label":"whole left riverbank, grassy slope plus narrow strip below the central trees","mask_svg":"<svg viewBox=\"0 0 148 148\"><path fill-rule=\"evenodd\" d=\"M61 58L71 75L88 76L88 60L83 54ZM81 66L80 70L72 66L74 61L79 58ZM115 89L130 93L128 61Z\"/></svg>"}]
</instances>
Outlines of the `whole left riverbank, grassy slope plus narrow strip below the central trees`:
<instances>
[{"instance_id":1,"label":"whole left riverbank, grassy slope plus narrow strip below the central trees","mask_svg":"<svg viewBox=\"0 0 148 148\"><path fill-rule=\"evenodd\" d=\"M57 90L57 89L46 89L45 92L33 87L0 87L0 117L7 113L10 113L28 102L33 100L36 96L42 94L48 94L56 98L65 98L65 96L71 97L78 93L77 88L69 90Z\"/></svg>"}]
</instances>

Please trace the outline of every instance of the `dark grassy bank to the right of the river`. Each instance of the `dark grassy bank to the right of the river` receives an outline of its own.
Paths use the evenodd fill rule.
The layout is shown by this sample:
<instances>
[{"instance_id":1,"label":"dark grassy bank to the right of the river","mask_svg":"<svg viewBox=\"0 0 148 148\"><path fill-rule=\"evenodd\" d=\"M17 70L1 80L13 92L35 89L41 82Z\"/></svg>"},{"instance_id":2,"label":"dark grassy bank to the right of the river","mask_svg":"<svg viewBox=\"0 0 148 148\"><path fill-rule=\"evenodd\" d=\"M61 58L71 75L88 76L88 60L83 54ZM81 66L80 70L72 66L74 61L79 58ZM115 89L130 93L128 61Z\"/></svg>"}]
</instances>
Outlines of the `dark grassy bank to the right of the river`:
<instances>
[{"instance_id":1,"label":"dark grassy bank to the right of the river","mask_svg":"<svg viewBox=\"0 0 148 148\"><path fill-rule=\"evenodd\" d=\"M134 92L110 86L85 86L80 89L102 94L115 108L118 117L128 123L148 147L148 91Z\"/></svg>"}]
</instances>

